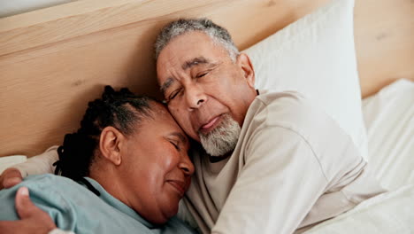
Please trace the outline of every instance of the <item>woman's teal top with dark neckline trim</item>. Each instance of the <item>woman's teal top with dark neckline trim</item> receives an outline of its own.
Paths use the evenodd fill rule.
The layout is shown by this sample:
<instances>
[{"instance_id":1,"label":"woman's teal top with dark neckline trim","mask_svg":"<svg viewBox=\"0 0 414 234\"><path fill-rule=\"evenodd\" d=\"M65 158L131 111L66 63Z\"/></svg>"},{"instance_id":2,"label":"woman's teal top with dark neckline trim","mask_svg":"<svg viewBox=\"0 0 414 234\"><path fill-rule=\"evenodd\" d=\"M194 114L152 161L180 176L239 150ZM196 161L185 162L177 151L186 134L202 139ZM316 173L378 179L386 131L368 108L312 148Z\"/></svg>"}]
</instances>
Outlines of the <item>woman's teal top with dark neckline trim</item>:
<instances>
[{"instance_id":1,"label":"woman's teal top with dark neckline trim","mask_svg":"<svg viewBox=\"0 0 414 234\"><path fill-rule=\"evenodd\" d=\"M177 217L156 226L115 199L95 180L85 177L100 192L58 175L30 175L19 185L0 191L0 220L18 220L14 197L19 187L29 189L30 199L50 214L61 230L81 233L196 233Z\"/></svg>"}]
</instances>

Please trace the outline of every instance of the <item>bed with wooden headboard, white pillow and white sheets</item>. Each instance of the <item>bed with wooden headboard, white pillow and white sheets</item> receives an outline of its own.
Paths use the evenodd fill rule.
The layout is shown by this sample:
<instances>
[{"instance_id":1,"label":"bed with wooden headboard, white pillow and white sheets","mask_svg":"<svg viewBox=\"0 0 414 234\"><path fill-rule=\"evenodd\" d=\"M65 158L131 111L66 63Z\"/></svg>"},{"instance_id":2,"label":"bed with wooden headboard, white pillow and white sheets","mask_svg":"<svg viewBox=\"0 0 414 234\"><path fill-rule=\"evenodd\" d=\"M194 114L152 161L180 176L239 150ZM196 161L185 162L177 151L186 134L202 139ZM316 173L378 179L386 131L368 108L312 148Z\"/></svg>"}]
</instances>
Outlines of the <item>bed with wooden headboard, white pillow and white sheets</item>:
<instances>
[{"instance_id":1,"label":"bed with wooden headboard, white pillow and white sheets","mask_svg":"<svg viewBox=\"0 0 414 234\"><path fill-rule=\"evenodd\" d=\"M261 77L287 74L288 69L301 70L295 69L296 66L306 66L312 73L325 70L321 68L324 64L331 67L328 70L332 73L321 77L333 79L319 77L322 80L309 79L302 83L304 72L296 71L288 76L297 79L290 79L284 88L302 83L303 88L299 89L305 92L320 90L315 95L326 90L337 93L336 97L341 100L317 98L355 136L376 175L391 190L380 199L361 204L353 210L355 214L341 215L309 231L340 233L347 230L343 227L354 227L348 232L377 232L369 229L378 228L372 223L384 223L383 219L390 218L375 219L371 214L394 211L401 215L395 214L395 222L388 224L397 227L399 223L403 227L395 233L414 232L412 224L408 224L414 217L407 209L414 208L414 191L410 186L414 183L414 160L411 159L414 154L414 2L357 0L350 12L351 21L344 25L351 26L351 37L341 36L345 30L326 20L336 19L337 12L323 18L324 27L312 29L309 35L302 33L307 32L305 28L310 23L318 21L317 17L309 17L310 13L333 11L320 10L326 4L332 3L327 0L180 0L174 4L161 0L83 0L0 18L0 156L15 155L0 158L0 170L42 153L51 145L61 144L65 133L78 128L88 100L97 98L103 85L127 86L159 98L152 55L157 32L168 21L180 17L208 17L230 31L241 51L253 58L257 75ZM341 11L341 7L335 7L335 11ZM332 37L325 42L326 28ZM294 34L303 37L290 40L298 37ZM342 46L343 38L348 38L348 47ZM326 46L328 43L331 47ZM279 48L280 44L284 51ZM276 49L271 50L271 46ZM277 53L269 54L269 51ZM347 56L342 58L341 52ZM312 55L314 59L310 58ZM353 60L349 62L349 58ZM333 60L337 62L334 64ZM266 65L269 61L278 61L278 66ZM286 65L285 70L280 70L280 64ZM274 70L275 67L279 70ZM257 85L268 88L267 83L274 82L275 86L283 86L270 79L258 80ZM407 202L400 202L407 198ZM391 205L381 208L378 204ZM361 226L364 229L358 229Z\"/></svg>"}]
</instances>

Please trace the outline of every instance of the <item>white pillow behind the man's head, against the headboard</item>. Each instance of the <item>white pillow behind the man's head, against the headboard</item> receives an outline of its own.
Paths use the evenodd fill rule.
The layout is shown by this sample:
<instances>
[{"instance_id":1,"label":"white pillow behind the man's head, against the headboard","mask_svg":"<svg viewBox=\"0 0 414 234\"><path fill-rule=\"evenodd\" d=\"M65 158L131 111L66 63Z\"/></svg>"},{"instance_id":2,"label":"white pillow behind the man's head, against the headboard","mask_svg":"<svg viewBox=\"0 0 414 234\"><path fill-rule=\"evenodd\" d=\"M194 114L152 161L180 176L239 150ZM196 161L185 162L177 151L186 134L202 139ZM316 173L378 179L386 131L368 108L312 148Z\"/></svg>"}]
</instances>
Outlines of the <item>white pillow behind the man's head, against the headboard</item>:
<instances>
[{"instance_id":1,"label":"white pillow behind the man's head, against the headboard","mask_svg":"<svg viewBox=\"0 0 414 234\"><path fill-rule=\"evenodd\" d=\"M332 0L245 52L256 87L297 90L338 122L367 159L354 46L353 0Z\"/></svg>"}]
</instances>

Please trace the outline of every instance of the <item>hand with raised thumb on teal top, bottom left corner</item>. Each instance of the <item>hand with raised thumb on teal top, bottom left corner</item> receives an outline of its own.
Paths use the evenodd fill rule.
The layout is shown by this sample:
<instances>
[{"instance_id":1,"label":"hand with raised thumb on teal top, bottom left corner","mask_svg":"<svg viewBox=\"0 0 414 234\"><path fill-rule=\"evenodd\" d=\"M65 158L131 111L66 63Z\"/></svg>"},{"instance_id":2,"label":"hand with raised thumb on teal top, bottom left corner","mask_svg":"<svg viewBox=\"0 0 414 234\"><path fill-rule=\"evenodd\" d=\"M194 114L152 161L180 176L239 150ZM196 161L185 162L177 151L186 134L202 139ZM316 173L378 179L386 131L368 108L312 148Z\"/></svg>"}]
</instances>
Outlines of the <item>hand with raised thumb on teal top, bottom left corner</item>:
<instances>
[{"instance_id":1,"label":"hand with raised thumb on teal top, bottom left corner","mask_svg":"<svg viewBox=\"0 0 414 234\"><path fill-rule=\"evenodd\" d=\"M46 234L56 229L55 223L49 214L36 207L29 198L26 187L21 187L16 193L16 211L21 220L0 221L0 233L23 234L39 233Z\"/></svg>"}]
</instances>

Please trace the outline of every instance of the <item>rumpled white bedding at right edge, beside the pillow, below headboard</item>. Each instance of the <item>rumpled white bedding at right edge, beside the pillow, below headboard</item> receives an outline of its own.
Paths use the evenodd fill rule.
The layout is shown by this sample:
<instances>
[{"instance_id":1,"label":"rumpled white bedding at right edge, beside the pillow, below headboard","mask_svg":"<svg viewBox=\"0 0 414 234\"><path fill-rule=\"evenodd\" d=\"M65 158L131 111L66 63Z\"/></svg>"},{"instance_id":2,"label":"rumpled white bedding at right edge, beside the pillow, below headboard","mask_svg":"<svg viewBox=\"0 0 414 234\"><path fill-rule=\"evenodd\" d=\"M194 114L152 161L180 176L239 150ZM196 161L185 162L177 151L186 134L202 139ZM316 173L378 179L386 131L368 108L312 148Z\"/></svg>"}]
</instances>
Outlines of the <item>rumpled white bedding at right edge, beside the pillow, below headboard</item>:
<instances>
[{"instance_id":1,"label":"rumpled white bedding at right edge, beside the pillow, below headboard","mask_svg":"<svg viewBox=\"0 0 414 234\"><path fill-rule=\"evenodd\" d=\"M382 185L414 183L414 82L398 80L364 99L363 113L369 161Z\"/></svg>"}]
</instances>

